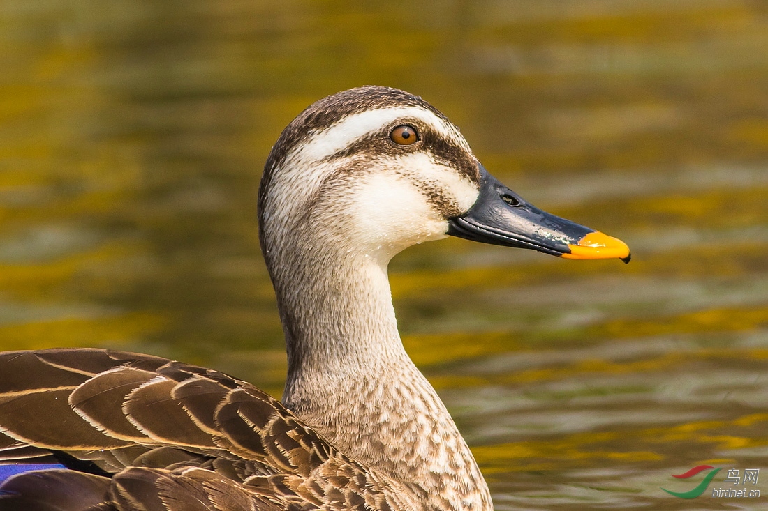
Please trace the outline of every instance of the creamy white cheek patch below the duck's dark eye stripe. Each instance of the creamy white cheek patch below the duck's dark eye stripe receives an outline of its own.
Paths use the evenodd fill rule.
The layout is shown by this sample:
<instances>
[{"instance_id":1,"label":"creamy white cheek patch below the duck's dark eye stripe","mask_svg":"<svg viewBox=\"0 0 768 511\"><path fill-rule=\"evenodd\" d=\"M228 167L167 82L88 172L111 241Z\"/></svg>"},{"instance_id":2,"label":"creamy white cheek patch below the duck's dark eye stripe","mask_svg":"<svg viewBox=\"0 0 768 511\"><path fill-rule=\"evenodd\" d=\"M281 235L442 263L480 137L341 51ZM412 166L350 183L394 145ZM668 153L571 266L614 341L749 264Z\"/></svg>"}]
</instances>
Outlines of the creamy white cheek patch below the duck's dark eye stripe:
<instances>
[{"instance_id":1,"label":"creamy white cheek patch below the duck's dark eye stripe","mask_svg":"<svg viewBox=\"0 0 768 511\"><path fill-rule=\"evenodd\" d=\"M355 239L363 250L395 253L414 243L440 239L448 223L406 178L372 174L360 183L349 205Z\"/></svg>"}]
</instances>

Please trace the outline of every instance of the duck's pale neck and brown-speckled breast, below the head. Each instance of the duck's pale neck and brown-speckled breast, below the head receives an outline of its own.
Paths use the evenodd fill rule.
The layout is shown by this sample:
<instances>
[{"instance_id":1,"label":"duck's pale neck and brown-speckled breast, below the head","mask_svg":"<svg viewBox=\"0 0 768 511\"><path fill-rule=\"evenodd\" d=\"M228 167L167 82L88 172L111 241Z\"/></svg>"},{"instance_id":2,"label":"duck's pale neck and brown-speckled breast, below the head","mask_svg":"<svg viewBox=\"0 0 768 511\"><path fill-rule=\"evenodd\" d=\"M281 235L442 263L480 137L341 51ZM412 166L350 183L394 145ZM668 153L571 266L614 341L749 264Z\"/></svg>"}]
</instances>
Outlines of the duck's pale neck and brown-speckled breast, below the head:
<instances>
[{"instance_id":1,"label":"duck's pale neck and brown-speckled breast, below the head","mask_svg":"<svg viewBox=\"0 0 768 511\"><path fill-rule=\"evenodd\" d=\"M472 453L402 347L389 256L329 246L275 254L279 267L267 257L288 351L283 403L353 459L415 485L429 508L492 509Z\"/></svg>"}]
</instances>

